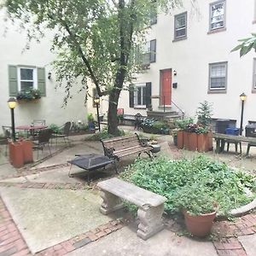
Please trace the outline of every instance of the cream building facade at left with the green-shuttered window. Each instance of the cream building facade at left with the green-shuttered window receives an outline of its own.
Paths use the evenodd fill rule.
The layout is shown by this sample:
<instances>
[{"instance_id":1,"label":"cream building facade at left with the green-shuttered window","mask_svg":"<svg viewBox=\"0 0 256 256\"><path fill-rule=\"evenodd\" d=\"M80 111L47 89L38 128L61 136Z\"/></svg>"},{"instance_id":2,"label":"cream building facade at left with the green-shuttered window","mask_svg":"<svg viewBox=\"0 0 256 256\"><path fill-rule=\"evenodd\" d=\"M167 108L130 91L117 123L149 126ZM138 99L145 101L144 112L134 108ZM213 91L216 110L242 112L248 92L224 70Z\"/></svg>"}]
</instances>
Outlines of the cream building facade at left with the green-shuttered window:
<instances>
[{"instance_id":1,"label":"cream building facade at left with the green-shuttered window","mask_svg":"<svg viewBox=\"0 0 256 256\"><path fill-rule=\"evenodd\" d=\"M64 88L57 88L51 62L55 55L50 52L51 33L40 43L32 41L26 49L26 32L18 23L4 21L4 10L0 12L0 125L10 125L9 97L20 91L39 90L37 101L19 101L15 108L15 125L30 125L33 119L45 119L46 125L62 125L67 121L85 120L87 108L84 93L73 88L73 99L62 108ZM0 128L1 128L0 126ZM2 133L2 131L0 131Z\"/></svg>"}]
</instances>

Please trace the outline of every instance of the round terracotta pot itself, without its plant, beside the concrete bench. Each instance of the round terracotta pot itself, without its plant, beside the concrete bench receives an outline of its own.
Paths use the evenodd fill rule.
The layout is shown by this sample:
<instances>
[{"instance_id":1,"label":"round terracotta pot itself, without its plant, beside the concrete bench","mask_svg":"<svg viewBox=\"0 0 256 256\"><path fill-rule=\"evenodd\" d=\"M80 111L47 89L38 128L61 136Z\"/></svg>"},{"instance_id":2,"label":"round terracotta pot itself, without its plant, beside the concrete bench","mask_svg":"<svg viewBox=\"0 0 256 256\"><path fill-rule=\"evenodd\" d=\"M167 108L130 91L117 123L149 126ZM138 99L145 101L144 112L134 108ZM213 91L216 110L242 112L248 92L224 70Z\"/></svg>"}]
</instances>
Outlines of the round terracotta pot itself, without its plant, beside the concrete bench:
<instances>
[{"instance_id":1,"label":"round terracotta pot itself, without its plant, beside the concrete bench","mask_svg":"<svg viewBox=\"0 0 256 256\"><path fill-rule=\"evenodd\" d=\"M216 212L191 216L188 212L183 211L183 214L187 230L189 230L192 235L204 237L210 234Z\"/></svg>"}]
</instances>

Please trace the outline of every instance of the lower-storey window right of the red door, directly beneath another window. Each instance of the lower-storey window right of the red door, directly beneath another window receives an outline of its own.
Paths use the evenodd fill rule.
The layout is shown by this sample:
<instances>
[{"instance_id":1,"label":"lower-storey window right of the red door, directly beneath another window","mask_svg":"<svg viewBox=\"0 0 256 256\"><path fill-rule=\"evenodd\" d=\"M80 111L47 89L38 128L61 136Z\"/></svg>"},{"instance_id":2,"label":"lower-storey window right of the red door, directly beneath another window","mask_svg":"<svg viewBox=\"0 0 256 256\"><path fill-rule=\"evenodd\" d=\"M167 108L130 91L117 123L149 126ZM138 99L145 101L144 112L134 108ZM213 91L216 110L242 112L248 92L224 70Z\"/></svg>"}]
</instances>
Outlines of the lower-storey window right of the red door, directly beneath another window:
<instances>
[{"instance_id":1,"label":"lower-storey window right of the red door, directly beneath another window","mask_svg":"<svg viewBox=\"0 0 256 256\"><path fill-rule=\"evenodd\" d=\"M226 90L227 62L212 63L209 65L209 90Z\"/></svg>"}]
</instances>

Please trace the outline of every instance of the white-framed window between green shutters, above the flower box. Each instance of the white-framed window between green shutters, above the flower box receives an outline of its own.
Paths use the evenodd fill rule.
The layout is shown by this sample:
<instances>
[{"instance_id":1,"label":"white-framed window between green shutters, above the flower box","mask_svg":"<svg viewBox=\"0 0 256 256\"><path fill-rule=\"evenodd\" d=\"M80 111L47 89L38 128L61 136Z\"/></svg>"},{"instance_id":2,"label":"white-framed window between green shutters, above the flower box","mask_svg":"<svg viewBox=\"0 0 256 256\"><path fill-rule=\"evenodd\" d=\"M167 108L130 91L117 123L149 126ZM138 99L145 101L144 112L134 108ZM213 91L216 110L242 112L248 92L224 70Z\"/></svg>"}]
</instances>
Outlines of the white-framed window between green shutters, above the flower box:
<instances>
[{"instance_id":1,"label":"white-framed window between green shutters, above the flower box","mask_svg":"<svg viewBox=\"0 0 256 256\"><path fill-rule=\"evenodd\" d=\"M20 91L37 89L38 83L36 76L36 68L18 67L18 89Z\"/></svg>"}]
</instances>

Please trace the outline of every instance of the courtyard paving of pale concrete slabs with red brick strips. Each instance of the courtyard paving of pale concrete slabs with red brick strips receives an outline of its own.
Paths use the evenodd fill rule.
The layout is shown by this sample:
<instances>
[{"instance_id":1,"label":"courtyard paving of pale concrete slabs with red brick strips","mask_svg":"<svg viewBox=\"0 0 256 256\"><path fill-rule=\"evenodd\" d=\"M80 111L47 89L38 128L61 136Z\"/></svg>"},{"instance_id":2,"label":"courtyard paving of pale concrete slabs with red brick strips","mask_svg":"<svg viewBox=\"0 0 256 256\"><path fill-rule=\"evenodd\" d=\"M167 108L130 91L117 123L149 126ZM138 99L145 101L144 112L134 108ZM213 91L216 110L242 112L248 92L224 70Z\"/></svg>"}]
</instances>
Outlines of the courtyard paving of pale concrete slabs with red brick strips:
<instances>
[{"instance_id":1,"label":"courtyard paving of pale concrete slabs with red brick strips","mask_svg":"<svg viewBox=\"0 0 256 256\"><path fill-rule=\"evenodd\" d=\"M189 151L177 150L172 137L160 136L161 154L178 159ZM0 148L1 150L1 148ZM3 152L3 151L2 151ZM245 152L243 150L243 152ZM101 199L96 183L115 176L111 166L96 173L88 186L86 177L68 177L67 160L74 154L99 153L102 145L76 142L32 168L15 170L2 154L0 160L0 256L7 255L256 255L256 214L234 222L214 224L213 242L178 236L182 230L166 219L166 230L143 241L136 235L137 224L117 212L104 216L98 211ZM231 166L242 166L255 174L256 152L249 159L236 154L212 154ZM120 169L134 157L121 161ZM73 172L80 172L73 166ZM125 215L126 216L126 215ZM120 220L119 220L120 219Z\"/></svg>"}]
</instances>

